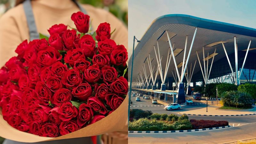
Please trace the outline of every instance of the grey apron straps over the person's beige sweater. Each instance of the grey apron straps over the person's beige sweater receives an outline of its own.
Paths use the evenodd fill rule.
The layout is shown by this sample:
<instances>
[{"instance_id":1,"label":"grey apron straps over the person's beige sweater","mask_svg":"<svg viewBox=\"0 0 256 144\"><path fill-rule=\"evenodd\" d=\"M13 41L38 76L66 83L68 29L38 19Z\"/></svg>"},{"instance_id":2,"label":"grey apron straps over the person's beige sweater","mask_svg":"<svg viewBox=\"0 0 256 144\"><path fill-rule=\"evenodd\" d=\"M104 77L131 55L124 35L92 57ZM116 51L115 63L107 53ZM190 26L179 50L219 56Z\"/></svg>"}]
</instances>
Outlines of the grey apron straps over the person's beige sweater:
<instances>
[{"instance_id":1,"label":"grey apron straps over the person's beige sweater","mask_svg":"<svg viewBox=\"0 0 256 144\"><path fill-rule=\"evenodd\" d=\"M77 7L80 9L81 12L83 12L84 14L87 14L86 10L76 0L72 0L72 1L77 5ZM39 33L37 32L36 22L35 22L30 0L25 0L23 2L23 8L24 8L27 23L28 23L30 41L34 39L39 39Z\"/></svg>"}]
</instances>

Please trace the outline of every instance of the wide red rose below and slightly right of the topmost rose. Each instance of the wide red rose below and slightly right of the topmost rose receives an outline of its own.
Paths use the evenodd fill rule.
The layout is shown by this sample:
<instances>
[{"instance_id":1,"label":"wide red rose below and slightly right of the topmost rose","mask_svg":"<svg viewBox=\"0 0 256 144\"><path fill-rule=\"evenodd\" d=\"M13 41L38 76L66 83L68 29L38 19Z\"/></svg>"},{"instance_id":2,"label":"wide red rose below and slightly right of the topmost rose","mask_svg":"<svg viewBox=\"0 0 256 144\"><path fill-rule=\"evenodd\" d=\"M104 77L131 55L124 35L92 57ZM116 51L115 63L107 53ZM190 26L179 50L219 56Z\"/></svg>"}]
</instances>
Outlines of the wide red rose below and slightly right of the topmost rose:
<instances>
[{"instance_id":1,"label":"wide red rose below and slightly right of the topmost rose","mask_svg":"<svg viewBox=\"0 0 256 144\"><path fill-rule=\"evenodd\" d=\"M81 37L81 39L76 42L76 48L81 48L84 52L84 55L86 57L92 58L92 56L95 54L95 40L91 35L84 35Z\"/></svg>"}]
</instances>

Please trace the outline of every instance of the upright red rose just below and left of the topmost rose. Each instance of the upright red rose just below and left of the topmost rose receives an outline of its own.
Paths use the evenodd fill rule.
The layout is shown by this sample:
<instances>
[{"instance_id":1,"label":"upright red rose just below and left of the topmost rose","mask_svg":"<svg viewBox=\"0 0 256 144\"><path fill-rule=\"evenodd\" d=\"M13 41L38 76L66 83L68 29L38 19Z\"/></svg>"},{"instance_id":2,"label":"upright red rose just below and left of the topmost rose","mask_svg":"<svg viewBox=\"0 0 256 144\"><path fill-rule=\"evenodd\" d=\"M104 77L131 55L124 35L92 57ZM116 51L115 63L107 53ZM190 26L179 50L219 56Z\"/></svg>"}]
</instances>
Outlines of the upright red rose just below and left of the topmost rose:
<instances>
[{"instance_id":1,"label":"upright red rose just below and left of the topmost rose","mask_svg":"<svg viewBox=\"0 0 256 144\"><path fill-rule=\"evenodd\" d=\"M65 49L67 49L67 50L73 49L75 47L74 42L76 39L78 39L78 37L76 36L76 30L74 30L74 29L66 30L62 35L62 40L65 45L64 50Z\"/></svg>"}]
</instances>

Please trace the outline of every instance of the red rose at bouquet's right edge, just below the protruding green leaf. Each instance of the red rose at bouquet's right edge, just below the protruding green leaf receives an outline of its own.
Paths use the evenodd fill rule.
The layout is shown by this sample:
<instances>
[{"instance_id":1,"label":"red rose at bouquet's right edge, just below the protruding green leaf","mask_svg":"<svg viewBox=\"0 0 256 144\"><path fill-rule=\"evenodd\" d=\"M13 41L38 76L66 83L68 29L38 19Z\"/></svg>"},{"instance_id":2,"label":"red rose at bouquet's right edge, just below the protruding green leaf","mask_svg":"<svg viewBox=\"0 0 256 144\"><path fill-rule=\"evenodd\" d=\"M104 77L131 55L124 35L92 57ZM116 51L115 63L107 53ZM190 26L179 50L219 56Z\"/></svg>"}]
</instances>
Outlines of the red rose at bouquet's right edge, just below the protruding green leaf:
<instances>
[{"instance_id":1,"label":"red rose at bouquet's right edge, just below the protruding green leaf","mask_svg":"<svg viewBox=\"0 0 256 144\"><path fill-rule=\"evenodd\" d=\"M123 76L120 76L116 81L110 84L110 89L112 92L117 94L127 94L128 92L128 82Z\"/></svg>"}]
</instances>

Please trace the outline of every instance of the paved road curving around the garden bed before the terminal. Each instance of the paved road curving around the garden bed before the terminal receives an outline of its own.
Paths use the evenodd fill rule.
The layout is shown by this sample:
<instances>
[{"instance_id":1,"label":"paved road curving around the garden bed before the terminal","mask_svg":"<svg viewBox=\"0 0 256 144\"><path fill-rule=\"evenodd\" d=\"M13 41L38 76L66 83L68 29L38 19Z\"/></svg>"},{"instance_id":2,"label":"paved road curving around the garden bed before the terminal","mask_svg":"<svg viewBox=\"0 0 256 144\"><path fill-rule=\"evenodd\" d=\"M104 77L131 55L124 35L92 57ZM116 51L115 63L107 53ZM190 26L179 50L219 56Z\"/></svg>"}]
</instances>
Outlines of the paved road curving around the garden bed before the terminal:
<instances>
[{"instance_id":1,"label":"paved road curving around the garden bed before the terminal","mask_svg":"<svg viewBox=\"0 0 256 144\"><path fill-rule=\"evenodd\" d=\"M162 104L160 106L151 106L152 100L143 100L141 97L141 102L135 102L135 97L132 98L132 106L140 107L131 107L139 108L143 110L151 110L153 113L165 113L165 114L176 114L179 115L179 112L198 109L206 107L206 104L200 104L199 101L196 101L196 105L189 105L180 110L166 111ZM194 100L193 100L194 101ZM146 106L146 107L145 107ZM206 108L205 108L206 110ZM204 119L204 120L226 120L232 126L235 127L217 129L210 131L199 131L199 132L183 132L183 133L129 133L129 143L147 143L147 144L169 144L169 143L222 143L233 140L241 140L256 137L255 127L256 127L256 116L188 116L189 119ZM239 125L239 126L237 126Z\"/></svg>"}]
</instances>

